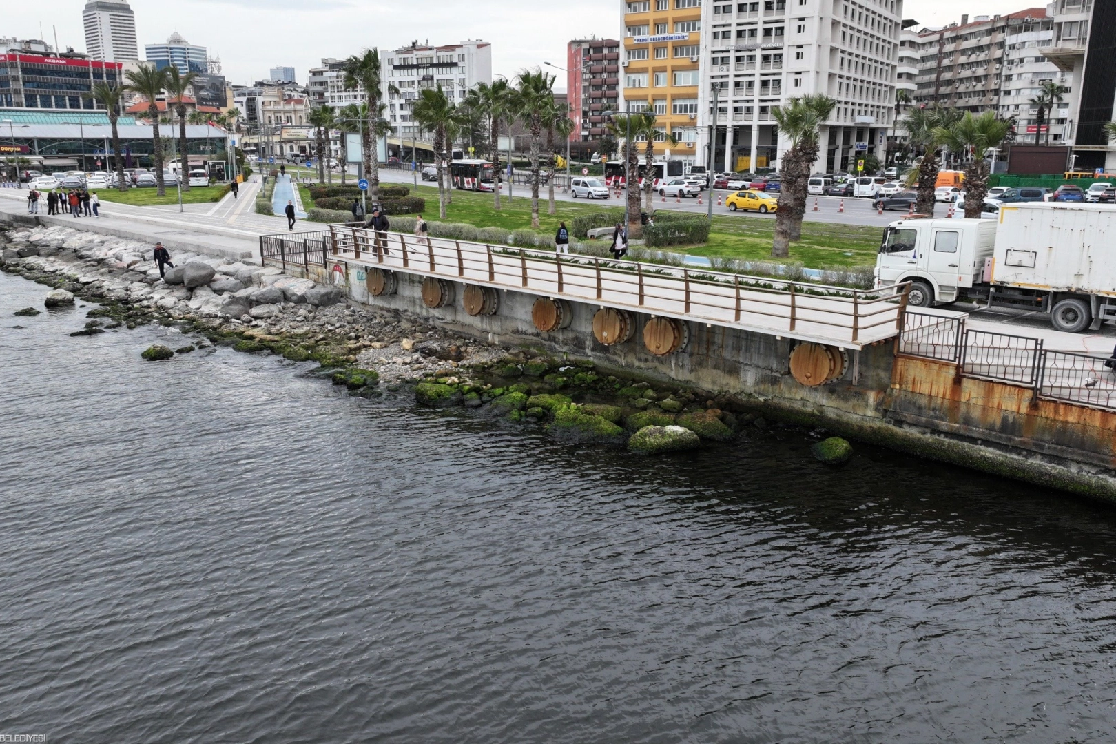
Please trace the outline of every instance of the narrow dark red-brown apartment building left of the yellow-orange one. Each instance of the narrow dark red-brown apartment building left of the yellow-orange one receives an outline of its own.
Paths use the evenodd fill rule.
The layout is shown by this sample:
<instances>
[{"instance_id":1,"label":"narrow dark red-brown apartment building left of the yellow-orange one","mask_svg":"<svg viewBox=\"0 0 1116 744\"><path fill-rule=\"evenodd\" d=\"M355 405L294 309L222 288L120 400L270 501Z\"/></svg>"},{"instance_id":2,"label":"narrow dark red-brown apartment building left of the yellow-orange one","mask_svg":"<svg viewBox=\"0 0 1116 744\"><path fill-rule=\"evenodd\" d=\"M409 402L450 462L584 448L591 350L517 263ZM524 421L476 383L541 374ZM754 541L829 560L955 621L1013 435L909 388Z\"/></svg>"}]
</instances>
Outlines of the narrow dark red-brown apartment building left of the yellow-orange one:
<instances>
[{"instance_id":1,"label":"narrow dark red-brown apartment building left of the yellow-orange one","mask_svg":"<svg viewBox=\"0 0 1116 744\"><path fill-rule=\"evenodd\" d=\"M574 39L566 47L566 90L575 142L605 135L602 112L616 109L620 95L620 42L617 39Z\"/></svg>"}]
</instances>

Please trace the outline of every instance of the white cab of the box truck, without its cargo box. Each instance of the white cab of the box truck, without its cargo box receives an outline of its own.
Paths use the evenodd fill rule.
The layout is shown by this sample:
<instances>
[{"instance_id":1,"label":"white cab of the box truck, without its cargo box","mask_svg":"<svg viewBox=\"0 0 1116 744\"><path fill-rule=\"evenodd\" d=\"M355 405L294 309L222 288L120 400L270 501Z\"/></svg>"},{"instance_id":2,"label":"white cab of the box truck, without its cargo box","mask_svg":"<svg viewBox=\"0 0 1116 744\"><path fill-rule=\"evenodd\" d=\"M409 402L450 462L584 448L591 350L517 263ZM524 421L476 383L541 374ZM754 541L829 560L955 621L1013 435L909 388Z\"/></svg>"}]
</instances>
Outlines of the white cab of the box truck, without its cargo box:
<instances>
[{"instance_id":1,"label":"white cab of the box truck, without its cargo box","mask_svg":"<svg viewBox=\"0 0 1116 744\"><path fill-rule=\"evenodd\" d=\"M995 248L992 220L907 219L884 231L876 257L876 287L911 281L907 302L953 302L981 282Z\"/></svg>"}]
</instances>

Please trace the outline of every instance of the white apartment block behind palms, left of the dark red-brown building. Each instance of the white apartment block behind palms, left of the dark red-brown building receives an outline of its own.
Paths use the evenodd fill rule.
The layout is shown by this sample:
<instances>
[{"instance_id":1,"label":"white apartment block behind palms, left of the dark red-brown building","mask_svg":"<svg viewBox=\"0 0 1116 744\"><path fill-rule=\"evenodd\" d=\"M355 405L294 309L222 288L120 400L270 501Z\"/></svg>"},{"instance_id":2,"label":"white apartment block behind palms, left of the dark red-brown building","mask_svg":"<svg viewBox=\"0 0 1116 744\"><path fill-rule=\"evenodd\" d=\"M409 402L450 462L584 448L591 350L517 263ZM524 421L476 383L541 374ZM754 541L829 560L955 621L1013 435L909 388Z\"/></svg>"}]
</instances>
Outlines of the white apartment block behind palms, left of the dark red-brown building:
<instances>
[{"instance_id":1,"label":"white apartment block behind palms, left of the dark red-brown building","mask_svg":"<svg viewBox=\"0 0 1116 744\"><path fill-rule=\"evenodd\" d=\"M478 83L492 83L492 45L469 40L444 47L417 41L394 51L381 52L382 100L387 102L387 119L403 139L429 142L411 115L423 88L441 86L450 100L460 104ZM396 93L392 88L398 90Z\"/></svg>"}]
</instances>

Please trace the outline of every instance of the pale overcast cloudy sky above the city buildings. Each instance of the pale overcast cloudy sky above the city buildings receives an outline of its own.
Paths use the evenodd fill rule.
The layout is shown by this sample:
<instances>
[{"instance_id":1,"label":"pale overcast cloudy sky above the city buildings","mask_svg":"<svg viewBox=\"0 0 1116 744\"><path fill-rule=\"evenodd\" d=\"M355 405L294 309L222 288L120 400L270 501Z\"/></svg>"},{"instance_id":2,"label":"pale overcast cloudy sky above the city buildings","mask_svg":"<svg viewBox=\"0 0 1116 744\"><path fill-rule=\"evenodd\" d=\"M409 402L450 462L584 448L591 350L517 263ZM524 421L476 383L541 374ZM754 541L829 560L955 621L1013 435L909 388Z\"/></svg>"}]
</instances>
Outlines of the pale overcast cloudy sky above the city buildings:
<instances>
[{"instance_id":1,"label":"pale overcast cloudy sky above the city buildings","mask_svg":"<svg viewBox=\"0 0 1116 744\"><path fill-rule=\"evenodd\" d=\"M395 48L414 39L493 42L493 73L509 77L543 61L565 67L566 41L619 32L618 0L131 0L141 54L177 31L220 55L234 83L267 77L272 65L292 66L298 80L323 57L347 57L365 47ZM979 12L1027 7L1017 0L981 0ZM1042 3L1036 2L1036 6ZM6 3L0 35L42 37L85 49L84 0ZM966 0L906 0L905 17L943 26L972 13ZM559 75L558 86L565 78Z\"/></svg>"}]
</instances>

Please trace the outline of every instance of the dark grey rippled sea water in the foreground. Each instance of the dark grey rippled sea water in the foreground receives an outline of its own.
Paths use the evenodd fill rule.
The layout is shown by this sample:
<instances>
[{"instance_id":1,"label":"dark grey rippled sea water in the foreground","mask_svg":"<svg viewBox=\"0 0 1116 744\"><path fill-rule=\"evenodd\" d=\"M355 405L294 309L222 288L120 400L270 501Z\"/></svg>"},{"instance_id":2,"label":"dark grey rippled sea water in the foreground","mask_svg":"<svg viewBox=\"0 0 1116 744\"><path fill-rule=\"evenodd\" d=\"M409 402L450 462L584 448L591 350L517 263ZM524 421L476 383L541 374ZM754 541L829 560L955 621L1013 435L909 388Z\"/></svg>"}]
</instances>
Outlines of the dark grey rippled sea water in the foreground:
<instances>
[{"instance_id":1,"label":"dark grey rippled sea water in the foreground","mask_svg":"<svg viewBox=\"0 0 1116 744\"><path fill-rule=\"evenodd\" d=\"M69 338L0 274L0 734L1108 742L1116 511L801 433L686 458ZM26 326L22 329L12 326Z\"/></svg>"}]
</instances>

